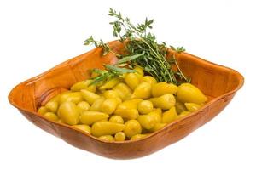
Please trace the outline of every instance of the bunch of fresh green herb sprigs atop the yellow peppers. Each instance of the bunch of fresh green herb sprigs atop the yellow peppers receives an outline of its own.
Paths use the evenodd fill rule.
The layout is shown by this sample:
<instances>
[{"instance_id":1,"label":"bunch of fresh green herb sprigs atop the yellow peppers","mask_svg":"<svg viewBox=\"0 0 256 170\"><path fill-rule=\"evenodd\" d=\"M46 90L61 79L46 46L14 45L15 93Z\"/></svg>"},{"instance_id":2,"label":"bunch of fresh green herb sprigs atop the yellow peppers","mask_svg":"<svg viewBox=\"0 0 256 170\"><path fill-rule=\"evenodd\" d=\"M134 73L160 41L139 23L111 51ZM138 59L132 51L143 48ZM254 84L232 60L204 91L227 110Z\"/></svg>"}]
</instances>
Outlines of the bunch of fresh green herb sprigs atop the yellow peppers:
<instances>
[{"instance_id":1,"label":"bunch of fresh green herb sprigs atop the yellow peppers","mask_svg":"<svg viewBox=\"0 0 256 170\"><path fill-rule=\"evenodd\" d=\"M125 42L125 49L127 51L126 55L120 55L119 64L127 63L128 66L137 64L143 67L145 71L153 76L158 82L171 82L174 84L179 84L181 82L189 82L189 79L184 76L180 67L177 65L177 60L175 59L175 54L182 53L185 51L183 47L174 48L171 46L172 50L176 53L172 55L172 59L167 60L166 55L168 54L165 42L157 42L156 37L148 31L152 29L152 24L154 20L146 20L142 24L133 25L129 18L123 17L120 12L109 9L109 14L115 20L109 24L113 26L113 37L118 37L120 42ZM94 43L96 47L102 47L103 54L108 54L112 52L108 44L100 41L94 40L92 37L84 41L85 45ZM176 65L177 71L172 69L172 65ZM114 65L118 67L118 65ZM121 72L116 71L113 73L112 67L106 67L108 72L104 72L104 76L96 77L95 82L98 80L105 79L104 77L115 77L121 75ZM109 74L109 75L108 75Z\"/></svg>"}]
</instances>

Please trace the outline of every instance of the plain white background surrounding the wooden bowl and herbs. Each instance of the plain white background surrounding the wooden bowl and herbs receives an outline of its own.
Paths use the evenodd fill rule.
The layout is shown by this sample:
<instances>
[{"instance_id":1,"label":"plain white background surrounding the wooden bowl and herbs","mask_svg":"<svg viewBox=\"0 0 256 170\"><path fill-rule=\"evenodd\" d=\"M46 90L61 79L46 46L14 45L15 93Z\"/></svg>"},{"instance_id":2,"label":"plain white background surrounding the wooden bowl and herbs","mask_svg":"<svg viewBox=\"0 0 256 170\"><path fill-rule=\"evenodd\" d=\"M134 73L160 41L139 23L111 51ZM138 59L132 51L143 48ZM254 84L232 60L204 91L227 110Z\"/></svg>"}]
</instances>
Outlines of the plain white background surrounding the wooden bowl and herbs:
<instances>
[{"instance_id":1,"label":"plain white background surrounding the wooden bowl and herbs","mask_svg":"<svg viewBox=\"0 0 256 170\"><path fill-rule=\"evenodd\" d=\"M11 88L90 48L90 35L113 40L108 8L134 22L154 18L159 41L245 77L211 122L150 156L111 160L79 150L32 125L9 105ZM255 45L252 1L0 1L0 169L256 169Z\"/></svg>"}]
</instances>

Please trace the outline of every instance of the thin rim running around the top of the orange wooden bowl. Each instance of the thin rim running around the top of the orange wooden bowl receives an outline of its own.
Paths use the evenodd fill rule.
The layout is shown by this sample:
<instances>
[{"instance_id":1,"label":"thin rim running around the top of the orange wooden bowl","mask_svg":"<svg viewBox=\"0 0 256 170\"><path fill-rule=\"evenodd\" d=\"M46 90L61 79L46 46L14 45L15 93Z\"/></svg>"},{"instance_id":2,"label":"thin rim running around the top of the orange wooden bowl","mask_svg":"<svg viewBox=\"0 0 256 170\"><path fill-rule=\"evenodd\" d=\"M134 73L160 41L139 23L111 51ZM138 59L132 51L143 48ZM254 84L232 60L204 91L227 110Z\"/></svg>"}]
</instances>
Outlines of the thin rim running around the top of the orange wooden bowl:
<instances>
[{"instance_id":1,"label":"thin rim running around the top of the orange wooden bowl","mask_svg":"<svg viewBox=\"0 0 256 170\"><path fill-rule=\"evenodd\" d=\"M112 42L116 42L116 41L112 41ZM108 43L112 43L112 42L108 42ZM94 48L94 49L92 49L92 50L90 50L89 52L86 52L86 53L84 53L84 54L88 54L88 53L90 53L90 52L92 52L93 50L96 50L96 49L97 49L97 48ZM168 51L172 51L172 50L169 48ZM142 138L142 139L135 139L135 140L129 139L129 140L125 140L125 141L106 141L106 140L102 140L102 139L99 139L99 138L97 138L97 137L91 135L90 133L85 133L85 132L81 131L80 129L75 128L75 127L72 127L72 126L70 126L70 125L67 125L67 124L64 124L64 123L60 123L60 122L51 121L51 120L45 118L44 116L38 114L38 112L36 112L36 111L27 111L27 110L21 108L19 105L17 105L17 104L15 103L15 101L14 101L14 99L13 99L13 93L14 93L14 91L15 91L15 88L19 87L21 84L32 83L32 82L34 82L35 80L37 80L38 77L41 77L41 76L43 76L44 74L49 73L50 71L55 71L55 69L57 69L59 66L63 65L64 63L68 63L70 60L72 60L72 59L74 59L74 58L78 58L78 57L81 56L81 55L78 55L78 56L73 57L73 58L71 58L71 59L67 59L66 61L61 62L60 64L55 65L54 67L50 68L48 71L44 71L43 73L39 74L38 76L31 77L31 78L27 79L26 81L23 81L23 82L20 82L19 84L17 84L17 85L15 86L15 88L12 88L11 91L9 92L9 95L8 95L9 103L10 103L11 105L13 105L15 108L17 108L18 110L20 110L20 111L24 111L24 112L26 112L26 113L29 113L29 114L31 114L32 116L38 116L38 117L44 119L46 122L54 123L55 125L58 125L58 126L61 126L61 127L66 127L66 128L69 128L69 129L73 129L74 131L76 131L76 132L78 132L78 133L82 133L82 134L88 136L90 139L94 139L94 140L96 140L96 141L98 141L98 142L101 142L101 143L106 143L106 144L127 144L127 143L135 143L135 142L138 142L138 141L143 141L143 140L145 140L145 139L148 139L148 138L153 137L154 135L157 135L158 133L160 133L161 131L163 131L163 130L166 129L166 128L173 127L177 122L182 122L182 121L184 121L184 120L189 119L190 116L195 116L195 115L198 114L200 111L202 111L202 110L206 109L207 107L209 107L209 105L212 105L212 103L215 103L216 101L218 101L218 100L220 100L220 99L224 99L225 96L228 96L228 95L230 95L230 94L236 93L236 91L239 90L239 89L243 86L243 84L244 84L244 77L241 75L241 73L238 72L238 71L236 71L236 70L234 70L234 69L231 69L230 67L227 67L227 66L224 66L224 65L215 64L215 63L213 63L213 62L211 62L211 61L208 61L208 60L206 60L206 59L201 59L200 57L197 57L197 56L195 56L195 55L193 55L193 54L189 54L189 53L186 53L186 52L183 52L182 54L185 55L186 57L189 57L190 59L197 60L197 62L201 62L203 65L215 65L215 66L218 66L219 68L222 68L222 69L224 69L224 70L232 71L232 72L236 73L236 76L239 78L239 83L238 83L238 85L236 86L236 88L230 90L229 92L227 92L227 93L225 93L225 94L219 95L219 96L216 97L216 98L213 98L212 100L208 101L208 102L206 103L206 105L203 105L199 110L193 111L191 114L189 114L189 115L187 115L187 116L183 116L183 117L181 117L181 118L179 118L179 119L177 119L177 120L175 120L175 121L173 121L173 122L171 122L171 123L168 123L165 127L162 127L160 130L157 130L157 131L155 131L154 133L149 133L146 137L144 137L144 138ZM82 54L82 55L83 55L83 54ZM56 131L55 128L54 128L54 130Z\"/></svg>"}]
</instances>

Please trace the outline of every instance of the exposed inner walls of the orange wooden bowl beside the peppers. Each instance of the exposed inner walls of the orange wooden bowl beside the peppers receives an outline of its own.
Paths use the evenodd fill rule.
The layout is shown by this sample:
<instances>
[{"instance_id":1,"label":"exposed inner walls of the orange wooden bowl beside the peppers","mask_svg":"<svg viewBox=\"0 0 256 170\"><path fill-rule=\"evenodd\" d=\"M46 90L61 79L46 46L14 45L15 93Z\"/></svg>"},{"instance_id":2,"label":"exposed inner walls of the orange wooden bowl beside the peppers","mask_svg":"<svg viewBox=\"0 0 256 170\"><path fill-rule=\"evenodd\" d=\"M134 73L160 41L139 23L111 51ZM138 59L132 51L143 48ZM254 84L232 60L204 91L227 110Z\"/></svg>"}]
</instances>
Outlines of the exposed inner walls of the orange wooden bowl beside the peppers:
<instances>
[{"instance_id":1,"label":"exposed inner walls of the orange wooden bowl beside the peppers","mask_svg":"<svg viewBox=\"0 0 256 170\"><path fill-rule=\"evenodd\" d=\"M124 53L123 44L114 41L109 46L116 53ZM169 55L173 52L169 50ZM191 54L177 54L177 62L183 73L191 77L192 83L206 94L209 101L241 88L243 77L230 68L212 64ZM102 64L115 63L114 54L102 57L102 49L95 48L88 53L69 59L26 82L21 82L9 94L9 101L22 111L36 113L40 105L55 94L70 88L73 83L89 77L90 69L103 68Z\"/></svg>"}]
</instances>

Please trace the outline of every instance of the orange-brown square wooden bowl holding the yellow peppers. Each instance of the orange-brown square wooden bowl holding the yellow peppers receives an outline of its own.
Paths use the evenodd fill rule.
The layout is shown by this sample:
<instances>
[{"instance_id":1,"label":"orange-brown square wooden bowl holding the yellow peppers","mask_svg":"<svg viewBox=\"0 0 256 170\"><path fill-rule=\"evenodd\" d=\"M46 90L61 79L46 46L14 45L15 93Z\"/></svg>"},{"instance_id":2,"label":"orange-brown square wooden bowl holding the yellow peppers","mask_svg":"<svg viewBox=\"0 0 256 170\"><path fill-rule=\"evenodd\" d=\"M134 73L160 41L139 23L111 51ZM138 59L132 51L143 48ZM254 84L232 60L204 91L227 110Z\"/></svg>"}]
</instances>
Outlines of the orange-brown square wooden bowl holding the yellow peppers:
<instances>
[{"instance_id":1,"label":"orange-brown square wooden bowl holding the yellow peppers","mask_svg":"<svg viewBox=\"0 0 256 170\"><path fill-rule=\"evenodd\" d=\"M117 53L122 53L123 45L109 42ZM170 50L170 53L172 51ZM216 65L191 54L178 54L177 62L192 83L209 98L207 104L183 119L168 124L160 131L145 139L124 142L105 142L73 127L51 122L38 115L40 105L44 105L55 94L67 90L74 82L87 79L88 70L103 68L103 63L116 62L113 54L102 57L102 49L95 48L88 53L69 59L49 71L21 82L9 94L9 102L30 122L82 150L113 159L131 159L147 156L183 139L196 128L217 116L229 104L236 91L243 85L243 77L237 71Z\"/></svg>"}]
</instances>

